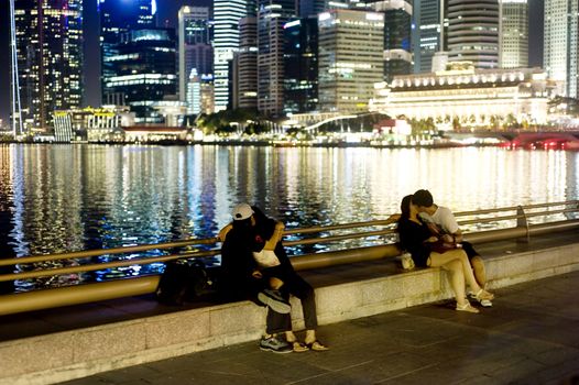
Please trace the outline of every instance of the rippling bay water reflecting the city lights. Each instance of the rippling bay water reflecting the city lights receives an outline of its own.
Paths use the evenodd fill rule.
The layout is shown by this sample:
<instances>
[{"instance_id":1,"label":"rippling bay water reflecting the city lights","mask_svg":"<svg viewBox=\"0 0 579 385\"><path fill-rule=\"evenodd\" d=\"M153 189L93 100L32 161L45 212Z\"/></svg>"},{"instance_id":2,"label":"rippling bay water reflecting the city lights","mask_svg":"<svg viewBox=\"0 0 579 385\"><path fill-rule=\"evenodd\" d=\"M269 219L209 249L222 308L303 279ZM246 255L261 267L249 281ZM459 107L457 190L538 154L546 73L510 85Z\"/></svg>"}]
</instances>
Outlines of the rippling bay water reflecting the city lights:
<instances>
[{"instance_id":1,"label":"rippling bay water reflecting the city lights","mask_svg":"<svg viewBox=\"0 0 579 385\"><path fill-rule=\"evenodd\" d=\"M579 153L495 147L12 144L0 145L0 257L215 237L239 201L298 228L384 219L418 188L457 211L571 200L579 190ZM100 280L161 266L48 279ZM21 283L37 285L44 282Z\"/></svg>"}]
</instances>

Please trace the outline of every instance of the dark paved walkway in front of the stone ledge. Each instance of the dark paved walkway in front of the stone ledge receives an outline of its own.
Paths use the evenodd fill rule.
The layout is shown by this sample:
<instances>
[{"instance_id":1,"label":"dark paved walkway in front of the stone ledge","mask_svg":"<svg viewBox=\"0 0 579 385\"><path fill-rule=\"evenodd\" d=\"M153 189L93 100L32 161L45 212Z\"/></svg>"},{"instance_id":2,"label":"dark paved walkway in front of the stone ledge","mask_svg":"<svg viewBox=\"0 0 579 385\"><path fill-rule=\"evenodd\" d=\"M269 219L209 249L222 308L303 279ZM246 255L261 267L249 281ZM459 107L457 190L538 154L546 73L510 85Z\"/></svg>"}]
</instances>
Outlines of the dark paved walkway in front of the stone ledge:
<instances>
[{"instance_id":1,"label":"dark paved walkway in front of the stone ledge","mask_svg":"<svg viewBox=\"0 0 579 385\"><path fill-rule=\"evenodd\" d=\"M579 384L579 272L496 295L481 315L443 302L321 327L324 353L243 343L66 384Z\"/></svg>"}]
</instances>

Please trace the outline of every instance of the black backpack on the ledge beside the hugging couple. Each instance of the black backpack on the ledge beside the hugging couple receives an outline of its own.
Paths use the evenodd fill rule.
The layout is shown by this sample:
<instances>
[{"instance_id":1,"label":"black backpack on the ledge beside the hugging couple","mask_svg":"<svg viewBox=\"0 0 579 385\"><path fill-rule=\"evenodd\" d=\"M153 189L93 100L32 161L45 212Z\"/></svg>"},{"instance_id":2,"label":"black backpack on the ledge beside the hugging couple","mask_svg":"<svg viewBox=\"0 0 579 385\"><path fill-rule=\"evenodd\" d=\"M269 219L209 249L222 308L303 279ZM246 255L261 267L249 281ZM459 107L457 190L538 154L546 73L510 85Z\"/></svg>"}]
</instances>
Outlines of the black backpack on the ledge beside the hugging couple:
<instances>
[{"instance_id":1,"label":"black backpack on the ledge beside the hugging couple","mask_svg":"<svg viewBox=\"0 0 579 385\"><path fill-rule=\"evenodd\" d=\"M170 261L159 280L156 298L161 304L183 305L210 293L212 285L201 262Z\"/></svg>"}]
</instances>

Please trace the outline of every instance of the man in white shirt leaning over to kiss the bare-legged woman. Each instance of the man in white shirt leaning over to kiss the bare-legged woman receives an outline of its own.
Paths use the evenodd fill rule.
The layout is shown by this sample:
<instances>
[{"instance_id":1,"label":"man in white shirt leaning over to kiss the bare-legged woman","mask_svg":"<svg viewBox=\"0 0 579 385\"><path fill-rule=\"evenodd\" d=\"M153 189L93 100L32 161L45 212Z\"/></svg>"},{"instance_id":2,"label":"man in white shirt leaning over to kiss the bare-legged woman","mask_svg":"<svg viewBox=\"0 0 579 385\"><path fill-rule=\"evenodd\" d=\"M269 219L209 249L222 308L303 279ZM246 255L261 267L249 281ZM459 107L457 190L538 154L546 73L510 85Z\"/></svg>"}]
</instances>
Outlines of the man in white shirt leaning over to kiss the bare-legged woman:
<instances>
[{"instance_id":1,"label":"man in white shirt leaning over to kiss the bare-legged woman","mask_svg":"<svg viewBox=\"0 0 579 385\"><path fill-rule=\"evenodd\" d=\"M460 244L462 246L462 250L465 250L469 257L477 283L482 288L485 288L487 271L484 268L484 262L472 244L462 240L462 231L452 211L446 207L435 205L430 191L424 189L414 193L412 202L416 205L419 217L428 224L433 234L441 237L445 242ZM492 306L489 299L481 299L479 302L484 307Z\"/></svg>"}]
</instances>

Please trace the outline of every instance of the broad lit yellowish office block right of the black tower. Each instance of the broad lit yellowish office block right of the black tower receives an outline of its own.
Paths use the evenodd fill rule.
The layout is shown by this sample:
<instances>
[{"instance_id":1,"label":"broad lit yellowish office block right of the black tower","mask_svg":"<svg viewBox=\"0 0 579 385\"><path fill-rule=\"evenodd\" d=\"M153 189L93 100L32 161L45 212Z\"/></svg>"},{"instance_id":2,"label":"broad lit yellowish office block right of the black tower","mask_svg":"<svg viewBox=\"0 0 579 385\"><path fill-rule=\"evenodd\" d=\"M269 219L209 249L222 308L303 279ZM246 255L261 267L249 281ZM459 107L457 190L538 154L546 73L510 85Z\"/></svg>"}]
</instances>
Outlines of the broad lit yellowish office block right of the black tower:
<instances>
[{"instance_id":1,"label":"broad lit yellowish office block right of the black tower","mask_svg":"<svg viewBox=\"0 0 579 385\"><path fill-rule=\"evenodd\" d=\"M368 111L384 77L384 15L331 10L318 15L320 111Z\"/></svg>"}]
</instances>

